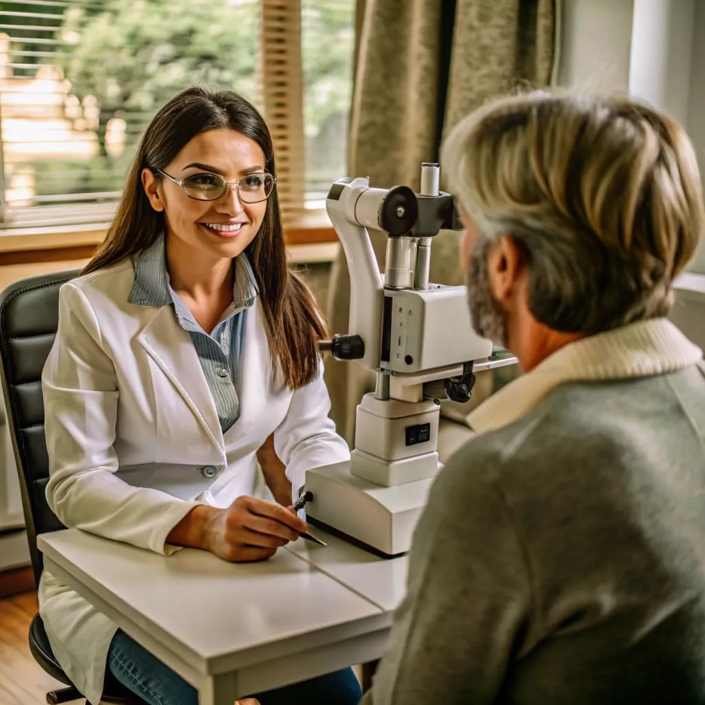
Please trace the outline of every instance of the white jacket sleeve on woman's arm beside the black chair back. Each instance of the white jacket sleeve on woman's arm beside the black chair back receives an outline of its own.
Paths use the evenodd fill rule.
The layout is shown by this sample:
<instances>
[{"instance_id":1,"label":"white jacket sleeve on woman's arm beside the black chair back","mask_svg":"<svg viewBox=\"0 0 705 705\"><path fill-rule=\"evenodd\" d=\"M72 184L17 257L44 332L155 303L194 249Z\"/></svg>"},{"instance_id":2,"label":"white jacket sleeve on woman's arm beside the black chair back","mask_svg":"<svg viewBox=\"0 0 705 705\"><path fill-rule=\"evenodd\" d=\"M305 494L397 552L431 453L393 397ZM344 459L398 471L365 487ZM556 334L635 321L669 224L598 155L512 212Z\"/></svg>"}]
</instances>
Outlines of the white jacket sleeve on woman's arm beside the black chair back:
<instances>
[{"instance_id":1,"label":"white jacket sleeve on woman's arm beside the black chair back","mask_svg":"<svg viewBox=\"0 0 705 705\"><path fill-rule=\"evenodd\" d=\"M97 317L73 283L59 293L59 329L42 373L47 501L59 520L169 553L166 537L196 502L133 487L114 474L119 390Z\"/></svg>"}]
</instances>

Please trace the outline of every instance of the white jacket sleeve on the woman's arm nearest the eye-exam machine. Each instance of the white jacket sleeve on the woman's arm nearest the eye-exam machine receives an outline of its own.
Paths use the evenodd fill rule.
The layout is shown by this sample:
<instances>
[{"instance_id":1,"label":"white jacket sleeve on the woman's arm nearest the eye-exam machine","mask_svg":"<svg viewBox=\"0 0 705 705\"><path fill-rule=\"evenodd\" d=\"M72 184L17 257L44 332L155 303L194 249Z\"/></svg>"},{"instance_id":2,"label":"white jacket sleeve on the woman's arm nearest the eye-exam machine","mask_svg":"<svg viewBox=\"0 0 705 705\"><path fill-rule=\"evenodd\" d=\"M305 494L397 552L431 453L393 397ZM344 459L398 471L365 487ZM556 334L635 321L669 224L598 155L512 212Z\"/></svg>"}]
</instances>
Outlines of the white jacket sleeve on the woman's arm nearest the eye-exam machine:
<instances>
[{"instance_id":1,"label":"white jacket sleeve on the woman's arm nearest the eye-exam machine","mask_svg":"<svg viewBox=\"0 0 705 705\"><path fill-rule=\"evenodd\" d=\"M293 501L299 496L307 470L350 460L350 449L336 434L330 410L321 364L317 379L293 393L286 417L274 431L274 453L286 467Z\"/></svg>"}]
</instances>

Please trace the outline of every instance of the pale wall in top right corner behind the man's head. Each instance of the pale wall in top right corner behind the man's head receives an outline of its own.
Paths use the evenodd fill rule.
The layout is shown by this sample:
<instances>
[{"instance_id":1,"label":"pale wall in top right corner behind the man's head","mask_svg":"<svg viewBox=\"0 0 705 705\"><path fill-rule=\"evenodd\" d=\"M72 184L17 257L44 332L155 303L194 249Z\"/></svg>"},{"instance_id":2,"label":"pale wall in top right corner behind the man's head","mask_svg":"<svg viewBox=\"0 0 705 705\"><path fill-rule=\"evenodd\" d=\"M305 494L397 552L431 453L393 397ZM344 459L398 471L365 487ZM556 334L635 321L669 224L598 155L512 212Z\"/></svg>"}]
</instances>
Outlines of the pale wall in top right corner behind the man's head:
<instances>
[{"instance_id":1,"label":"pale wall in top right corner behind the man's head","mask_svg":"<svg viewBox=\"0 0 705 705\"><path fill-rule=\"evenodd\" d=\"M705 175L705 0L563 0L558 80L629 91L685 126ZM705 241L689 266L705 274Z\"/></svg>"}]
</instances>

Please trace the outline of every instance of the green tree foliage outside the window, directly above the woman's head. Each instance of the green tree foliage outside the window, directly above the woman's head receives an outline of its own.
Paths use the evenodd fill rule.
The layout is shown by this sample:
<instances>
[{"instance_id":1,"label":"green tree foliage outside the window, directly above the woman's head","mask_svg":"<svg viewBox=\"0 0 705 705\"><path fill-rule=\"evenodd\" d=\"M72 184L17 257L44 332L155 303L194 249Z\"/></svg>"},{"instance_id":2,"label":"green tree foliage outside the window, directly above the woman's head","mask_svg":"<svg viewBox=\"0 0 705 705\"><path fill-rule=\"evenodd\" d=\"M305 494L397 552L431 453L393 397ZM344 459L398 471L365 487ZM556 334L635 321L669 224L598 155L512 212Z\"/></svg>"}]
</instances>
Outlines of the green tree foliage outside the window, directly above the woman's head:
<instances>
[{"instance_id":1,"label":"green tree foliage outside the window, directly above the woman's head","mask_svg":"<svg viewBox=\"0 0 705 705\"><path fill-rule=\"evenodd\" d=\"M193 84L257 97L257 4L228 0L103 0L66 10L61 59L71 91L93 96L99 137L120 114L134 142L161 105Z\"/></svg>"}]
</instances>

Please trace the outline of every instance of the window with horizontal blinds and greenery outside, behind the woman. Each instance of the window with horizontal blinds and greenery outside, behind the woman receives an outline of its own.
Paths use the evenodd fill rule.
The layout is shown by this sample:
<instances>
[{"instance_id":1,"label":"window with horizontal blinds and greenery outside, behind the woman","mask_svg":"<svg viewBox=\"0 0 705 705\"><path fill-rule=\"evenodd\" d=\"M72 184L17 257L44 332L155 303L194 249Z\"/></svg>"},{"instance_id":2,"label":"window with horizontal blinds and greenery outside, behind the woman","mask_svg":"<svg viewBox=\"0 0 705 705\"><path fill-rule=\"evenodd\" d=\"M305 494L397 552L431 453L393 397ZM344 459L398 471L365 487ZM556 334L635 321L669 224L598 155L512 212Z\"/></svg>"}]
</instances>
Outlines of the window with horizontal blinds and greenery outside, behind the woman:
<instances>
[{"instance_id":1,"label":"window with horizontal blinds and greenery outside, behind the woman","mask_svg":"<svg viewBox=\"0 0 705 705\"><path fill-rule=\"evenodd\" d=\"M252 100L288 223L345 175L355 0L0 1L1 226L110 219L152 115L195 83Z\"/></svg>"}]
</instances>

